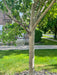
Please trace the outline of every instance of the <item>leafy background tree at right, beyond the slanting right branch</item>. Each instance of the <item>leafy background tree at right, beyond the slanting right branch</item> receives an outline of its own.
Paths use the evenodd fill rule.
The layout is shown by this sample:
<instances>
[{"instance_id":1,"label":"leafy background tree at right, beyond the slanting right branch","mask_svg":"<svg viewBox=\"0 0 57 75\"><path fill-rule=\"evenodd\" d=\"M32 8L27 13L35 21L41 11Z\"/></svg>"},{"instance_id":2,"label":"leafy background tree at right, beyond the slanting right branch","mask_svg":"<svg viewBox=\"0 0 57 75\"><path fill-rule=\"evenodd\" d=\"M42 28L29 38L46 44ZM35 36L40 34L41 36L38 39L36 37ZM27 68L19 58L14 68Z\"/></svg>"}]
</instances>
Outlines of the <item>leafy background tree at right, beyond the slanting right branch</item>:
<instances>
[{"instance_id":1,"label":"leafy background tree at right, beyond the slanting right branch","mask_svg":"<svg viewBox=\"0 0 57 75\"><path fill-rule=\"evenodd\" d=\"M48 11L47 15L42 18L40 21L38 28L46 33L47 31L51 31L55 34L57 33L57 3L54 3L51 10Z\"/></svg>"}]
</instances>

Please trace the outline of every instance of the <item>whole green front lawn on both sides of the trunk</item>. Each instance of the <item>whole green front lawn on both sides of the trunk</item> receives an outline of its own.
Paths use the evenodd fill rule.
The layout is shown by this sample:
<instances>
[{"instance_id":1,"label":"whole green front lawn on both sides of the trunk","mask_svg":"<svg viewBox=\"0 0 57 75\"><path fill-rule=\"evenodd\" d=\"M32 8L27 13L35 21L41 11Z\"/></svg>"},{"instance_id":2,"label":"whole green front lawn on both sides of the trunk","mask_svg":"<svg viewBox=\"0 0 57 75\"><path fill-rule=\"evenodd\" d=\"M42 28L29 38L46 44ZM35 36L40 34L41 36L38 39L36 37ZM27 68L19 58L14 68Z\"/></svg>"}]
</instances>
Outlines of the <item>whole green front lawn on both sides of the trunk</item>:
<instances>
[{"instance_id":1,"label":"whole green front lawn on both sides of the trunk","mask_svg":"<svg viewBox=\"0 0 57 75\"><path fill-rule=\"evenodd\" d=\"M35 70L46 69L57 72L57 50L35 50ZM0 75L14 75L16 72L29 70L29 51L0 51Z\"/></svg>"}]
</instances>

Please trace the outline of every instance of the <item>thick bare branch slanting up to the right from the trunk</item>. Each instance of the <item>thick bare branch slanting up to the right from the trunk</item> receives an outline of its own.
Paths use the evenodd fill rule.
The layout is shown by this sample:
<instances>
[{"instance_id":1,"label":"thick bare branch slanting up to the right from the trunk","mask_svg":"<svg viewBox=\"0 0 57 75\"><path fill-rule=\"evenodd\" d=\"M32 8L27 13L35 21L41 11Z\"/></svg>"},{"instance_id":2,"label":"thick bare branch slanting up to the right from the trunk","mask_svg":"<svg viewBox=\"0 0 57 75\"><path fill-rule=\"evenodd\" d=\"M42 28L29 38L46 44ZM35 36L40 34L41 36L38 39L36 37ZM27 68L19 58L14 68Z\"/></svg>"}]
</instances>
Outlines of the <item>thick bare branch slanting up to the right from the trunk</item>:
<instances>
[{"instance_id":1,"label":"thick bare branch slanting up to the right from the trunk","mask_svg":"<svg viewBox=\"0 0 57 75\"><path fill-rule=\"evenodd\" d=\"M52 7L52 5L55 3L56 0L53 0L50 5L48 6L48 8L42 13L42 15L38 18L38 20L36 21L36 23L33 25L32 31L35 29L35 27L37 26L37 24L39 24L39 22L41 21L41 19L44 17L44 15L48 12L48 10Z\"/></svg>"}]
</instances>

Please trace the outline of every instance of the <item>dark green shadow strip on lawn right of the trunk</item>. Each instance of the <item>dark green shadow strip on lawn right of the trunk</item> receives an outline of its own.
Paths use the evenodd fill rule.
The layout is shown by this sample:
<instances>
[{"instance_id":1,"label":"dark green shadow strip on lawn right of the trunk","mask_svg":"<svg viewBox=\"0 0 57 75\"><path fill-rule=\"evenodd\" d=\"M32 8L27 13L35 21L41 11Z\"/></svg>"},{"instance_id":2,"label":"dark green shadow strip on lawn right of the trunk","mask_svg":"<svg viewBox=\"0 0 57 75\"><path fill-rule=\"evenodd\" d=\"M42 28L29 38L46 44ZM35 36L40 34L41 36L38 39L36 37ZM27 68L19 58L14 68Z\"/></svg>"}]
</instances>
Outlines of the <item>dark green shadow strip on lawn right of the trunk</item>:
<instances>
[{"instance_id":1,"label":"dark green shadow strip on lawn right of the trunk","mask_svg":"<svg viewBox=\"0 0 57 75\"><path fill-rule=\"evenodd\" d=\"M57 49L42 49L42 50L35 50L35 56L39 57L56 57L57 56Z\"/></svg>"}]
</instances>

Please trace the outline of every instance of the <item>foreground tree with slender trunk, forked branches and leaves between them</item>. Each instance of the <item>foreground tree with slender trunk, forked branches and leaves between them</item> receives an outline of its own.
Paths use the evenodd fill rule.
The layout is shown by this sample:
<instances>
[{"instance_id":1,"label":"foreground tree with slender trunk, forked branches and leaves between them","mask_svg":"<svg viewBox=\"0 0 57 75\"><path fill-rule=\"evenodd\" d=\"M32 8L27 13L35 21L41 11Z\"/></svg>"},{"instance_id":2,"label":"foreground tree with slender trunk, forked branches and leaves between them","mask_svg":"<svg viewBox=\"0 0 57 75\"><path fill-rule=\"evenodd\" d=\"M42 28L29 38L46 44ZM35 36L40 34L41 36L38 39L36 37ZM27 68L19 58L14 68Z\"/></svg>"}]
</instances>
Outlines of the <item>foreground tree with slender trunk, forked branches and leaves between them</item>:
<instances>
[{"instance_id":1,"label":"foreground tree with slender trunk, forked branches and leaves between them","mask_svg":"<svg viewBox=\"0 0 57 75\"><path fill-rule=\"evenodd\" d=\"M56 0L0 0L0 8L7 16L14 20L14 22L23 27L29 35L29 75L34 75L35 27L55 1ZM20 16L20 12L23 14L22 16Z\"/></svg>"}]
</instances>

